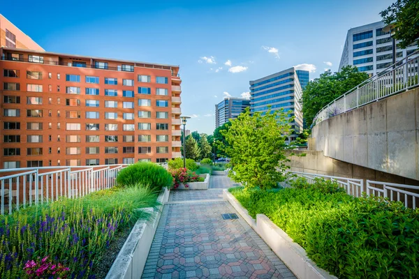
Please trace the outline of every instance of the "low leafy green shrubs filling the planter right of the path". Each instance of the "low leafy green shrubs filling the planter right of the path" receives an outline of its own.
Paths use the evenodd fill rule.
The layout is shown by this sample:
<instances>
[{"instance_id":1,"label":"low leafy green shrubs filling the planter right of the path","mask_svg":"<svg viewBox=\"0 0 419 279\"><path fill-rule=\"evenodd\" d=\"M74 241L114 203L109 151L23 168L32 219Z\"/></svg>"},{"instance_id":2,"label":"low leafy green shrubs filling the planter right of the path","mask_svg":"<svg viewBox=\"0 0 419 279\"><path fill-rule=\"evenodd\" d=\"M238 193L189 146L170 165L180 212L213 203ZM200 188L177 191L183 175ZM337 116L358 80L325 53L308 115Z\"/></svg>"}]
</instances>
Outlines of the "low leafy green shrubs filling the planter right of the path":
<instances>
[{"instance_id":1,"label":"low leafy green shrubs filling the planter right of the path","mask_svg":"<svg viewBox=\"0 0 419 279\"><path fill-rule=\"evenodd\" d=\"M277 192L229 190L253 218L265 214L338 278L419 278L418 210L355 198L330 181L294 185Z\"/></svg>"}]
</instances>

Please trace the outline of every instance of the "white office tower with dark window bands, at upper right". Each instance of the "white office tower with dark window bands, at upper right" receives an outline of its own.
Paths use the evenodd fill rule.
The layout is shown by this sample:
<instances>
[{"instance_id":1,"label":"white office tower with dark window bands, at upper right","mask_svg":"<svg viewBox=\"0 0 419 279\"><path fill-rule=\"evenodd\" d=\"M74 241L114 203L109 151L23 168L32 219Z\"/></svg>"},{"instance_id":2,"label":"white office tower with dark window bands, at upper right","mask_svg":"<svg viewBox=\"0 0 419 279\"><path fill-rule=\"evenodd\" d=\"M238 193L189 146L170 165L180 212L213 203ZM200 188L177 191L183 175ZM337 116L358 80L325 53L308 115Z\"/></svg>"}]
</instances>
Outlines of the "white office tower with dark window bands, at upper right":
<instances>
[{"instance_id":1,"label":"white office tower with dark window bands, at upper right","mask_svg":"<svg viewBox=\"0 0 419 279\"><path fill-rule=\"evenodd\" d=\"M348 30L339 70L348 65L355 65L361 72L376 75L392 65L392 38L390 32L383 31L384 22L355 27ZM396 60L402 60L418 49L412 43L406 50L398 49L396 42Z\"/></svg>"}]
</instances>

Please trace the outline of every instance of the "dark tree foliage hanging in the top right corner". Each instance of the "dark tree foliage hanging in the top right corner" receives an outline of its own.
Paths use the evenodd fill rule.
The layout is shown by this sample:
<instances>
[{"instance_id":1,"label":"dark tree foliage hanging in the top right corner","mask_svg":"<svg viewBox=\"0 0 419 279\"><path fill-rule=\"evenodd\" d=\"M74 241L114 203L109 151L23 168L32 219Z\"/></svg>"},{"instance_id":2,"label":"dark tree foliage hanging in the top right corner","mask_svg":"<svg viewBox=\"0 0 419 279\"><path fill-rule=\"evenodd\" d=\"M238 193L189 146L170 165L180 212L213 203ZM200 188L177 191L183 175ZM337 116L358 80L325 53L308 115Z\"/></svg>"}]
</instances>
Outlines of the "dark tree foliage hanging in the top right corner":
<instances>
[{"instance_id":1,"label":"dark tree foliage hanging in the top right corner","mask_svg":"<svg viewBox=\"0 0 419 279\"><path fill-rule=\"evenodd\" d=\"M397 0L380 13L385 24L395 24L395 38L400 40L400 48L412 43L419 46L419 1Z\"/></svg>"}]
</instances>

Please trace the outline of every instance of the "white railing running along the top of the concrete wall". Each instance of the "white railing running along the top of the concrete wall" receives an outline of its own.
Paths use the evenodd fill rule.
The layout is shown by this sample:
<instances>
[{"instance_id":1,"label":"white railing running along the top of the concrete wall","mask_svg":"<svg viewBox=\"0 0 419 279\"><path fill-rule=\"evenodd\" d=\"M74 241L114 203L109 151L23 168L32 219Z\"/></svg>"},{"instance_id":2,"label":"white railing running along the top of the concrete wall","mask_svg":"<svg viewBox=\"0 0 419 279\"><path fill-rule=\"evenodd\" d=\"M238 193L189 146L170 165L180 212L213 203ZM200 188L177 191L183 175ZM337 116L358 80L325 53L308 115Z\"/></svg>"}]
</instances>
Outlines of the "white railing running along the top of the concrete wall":
<instances>
[{"instance_id":1,"label":"white railing running along the top of the concrete wall","mask_svg":"<svg viewBox=\"0 0 419 279\"><path fill-rule=\"evenodd\" d=\"M338 114L419 86L419 50L332 100L316 114L313 125Z\"/></svg>"}]
</instances>

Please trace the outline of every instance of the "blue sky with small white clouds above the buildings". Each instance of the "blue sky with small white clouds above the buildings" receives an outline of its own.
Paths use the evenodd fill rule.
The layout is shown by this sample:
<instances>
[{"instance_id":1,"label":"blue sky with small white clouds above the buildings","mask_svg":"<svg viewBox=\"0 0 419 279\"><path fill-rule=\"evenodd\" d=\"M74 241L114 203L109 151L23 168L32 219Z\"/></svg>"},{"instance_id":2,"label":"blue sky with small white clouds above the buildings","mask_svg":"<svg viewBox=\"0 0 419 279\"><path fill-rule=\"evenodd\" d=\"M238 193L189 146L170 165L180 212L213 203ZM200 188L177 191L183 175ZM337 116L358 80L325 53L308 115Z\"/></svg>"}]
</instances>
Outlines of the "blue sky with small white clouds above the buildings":
<instances>
[{"instance_id":1,"label":"blue sky with small white clouds above the buildings","mask_svg":"<svg viewBox=\"0 0 419 279\"><path fill-rule=\"evenodd\" d=\"M336 71L348 29L391 3L24 0L0 13L47 51L179 65L186 128L210 134L214 105L249 80L300 64L310 78Z\"/></svg>"}]
</instances>

